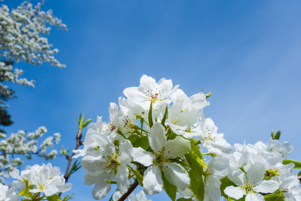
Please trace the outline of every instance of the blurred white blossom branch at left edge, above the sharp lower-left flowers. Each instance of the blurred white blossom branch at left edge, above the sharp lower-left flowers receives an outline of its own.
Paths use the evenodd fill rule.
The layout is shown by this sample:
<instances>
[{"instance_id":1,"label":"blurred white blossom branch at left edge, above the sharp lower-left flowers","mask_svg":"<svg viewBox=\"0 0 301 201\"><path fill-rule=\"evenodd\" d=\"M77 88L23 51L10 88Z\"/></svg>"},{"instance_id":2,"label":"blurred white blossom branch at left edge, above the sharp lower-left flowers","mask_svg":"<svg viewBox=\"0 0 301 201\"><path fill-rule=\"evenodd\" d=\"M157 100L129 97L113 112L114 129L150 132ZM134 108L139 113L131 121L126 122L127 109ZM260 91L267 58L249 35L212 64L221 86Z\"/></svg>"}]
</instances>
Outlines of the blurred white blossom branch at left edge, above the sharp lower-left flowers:
<instances>
[{"instance_id":1,"label":"blurred white blossom branch at left edge, above the sharp lower-left flowers","mask_svg":"<svg viewBox=\"0 0 301 201\"><path fill-rule=\"evenodd\" d=\"M52 150L48 154L47 148L53 146L53 140L56 143L60 140L60 134L55 133L54 137L46 138L38 149L38 138L42 137L47 132L44 126L39 127L34 133L29 133L25 136L24 131L19 131L16 134L10 134L6 139L0 141L0 182L4 183L3 178L9 177L9 171L20 167L24 161L20 158L14 158L16 155L23 155L27 159L31 159L32 155L43 157L45 160L54 159L58 154L57 150Z\"/></svg>"}]
</instances>

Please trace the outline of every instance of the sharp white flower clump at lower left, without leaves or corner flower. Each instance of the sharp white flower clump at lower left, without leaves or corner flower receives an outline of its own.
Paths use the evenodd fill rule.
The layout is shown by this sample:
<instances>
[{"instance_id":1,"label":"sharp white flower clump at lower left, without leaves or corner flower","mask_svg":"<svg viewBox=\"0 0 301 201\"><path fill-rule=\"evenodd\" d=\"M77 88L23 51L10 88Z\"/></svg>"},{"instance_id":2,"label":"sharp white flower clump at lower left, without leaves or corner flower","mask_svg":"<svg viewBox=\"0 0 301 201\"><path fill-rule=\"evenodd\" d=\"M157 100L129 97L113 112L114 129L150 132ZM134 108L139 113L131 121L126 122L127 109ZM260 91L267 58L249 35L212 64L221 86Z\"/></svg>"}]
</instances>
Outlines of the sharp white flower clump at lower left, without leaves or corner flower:
<instances>
[{"instance_id":1,"label":"sharp white flower clump at lower left, without leaves or corner flower","mask_svg":"<svg viewBox=\"0 0 301 201\"><path fill-rule=\"evenodd\" d=\"M17 179L12 182L12 186L18 190L29 188L29 192L44 193L45 196L52 196L56 193L69 191L72 187L71 183L65 183L63 175L61 175L60 167L52 167L47 165L34 165L30 169L21 171L14 169L9 175Z\"/></svg>"}]
</instances>

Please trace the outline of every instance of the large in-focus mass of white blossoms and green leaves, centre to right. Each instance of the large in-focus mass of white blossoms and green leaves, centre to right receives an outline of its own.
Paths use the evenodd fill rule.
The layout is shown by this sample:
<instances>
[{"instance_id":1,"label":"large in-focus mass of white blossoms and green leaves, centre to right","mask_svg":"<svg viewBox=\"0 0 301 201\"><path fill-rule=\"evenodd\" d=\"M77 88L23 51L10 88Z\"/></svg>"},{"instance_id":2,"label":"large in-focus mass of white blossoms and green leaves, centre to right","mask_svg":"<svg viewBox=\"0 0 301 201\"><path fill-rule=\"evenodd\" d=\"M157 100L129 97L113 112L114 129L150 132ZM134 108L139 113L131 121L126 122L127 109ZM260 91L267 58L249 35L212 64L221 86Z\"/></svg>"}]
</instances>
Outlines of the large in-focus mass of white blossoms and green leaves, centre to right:
<instances>
[{"instance_id":1,"label":"large in-focus mass of white blossoms and green leaves, centre to right","mask_svg":"<svg viewBox=\"0 0 301 201\"><path fill-rule=\"evenodd\" d=\"M104 198L112 184L119 189L115 197L125 194L134 180L147 195L164 189L173 201L300 200L294 162L283 158L292 146L278 139L231 146L204 116L211 93L188 97L171 80L143 75L139 87L123 94L119 104L110 104L110 121L97 117L84 148L73 150L74 158L83 157L85 184L94 185L94 199ZM211 159L206 163L203 155Z\"/></svg>"}]
</instances>

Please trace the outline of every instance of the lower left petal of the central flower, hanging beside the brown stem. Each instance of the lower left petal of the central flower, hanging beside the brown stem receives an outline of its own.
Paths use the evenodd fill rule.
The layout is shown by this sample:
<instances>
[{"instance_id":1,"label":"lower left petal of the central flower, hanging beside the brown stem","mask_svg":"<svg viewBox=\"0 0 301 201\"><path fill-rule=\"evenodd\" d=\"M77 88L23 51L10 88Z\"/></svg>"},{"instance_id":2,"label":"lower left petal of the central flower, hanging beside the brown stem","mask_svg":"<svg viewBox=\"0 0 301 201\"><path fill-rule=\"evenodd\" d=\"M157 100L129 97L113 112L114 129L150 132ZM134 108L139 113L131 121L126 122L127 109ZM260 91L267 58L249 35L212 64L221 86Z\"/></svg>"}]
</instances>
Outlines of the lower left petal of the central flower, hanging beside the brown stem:
<instances>
[{"instance_id":1,"label":"lower left petal of the central flower, hanging beside the brown stem","mask_svg":"<svg viewBox=\"0 0 301 201\"><path fill-rule=\"evenodd\" d=\"M143 175L143 190L149 196L160 193L163 187L162 174L158 166L150 166Z\"/></svg>"}]
</instances>

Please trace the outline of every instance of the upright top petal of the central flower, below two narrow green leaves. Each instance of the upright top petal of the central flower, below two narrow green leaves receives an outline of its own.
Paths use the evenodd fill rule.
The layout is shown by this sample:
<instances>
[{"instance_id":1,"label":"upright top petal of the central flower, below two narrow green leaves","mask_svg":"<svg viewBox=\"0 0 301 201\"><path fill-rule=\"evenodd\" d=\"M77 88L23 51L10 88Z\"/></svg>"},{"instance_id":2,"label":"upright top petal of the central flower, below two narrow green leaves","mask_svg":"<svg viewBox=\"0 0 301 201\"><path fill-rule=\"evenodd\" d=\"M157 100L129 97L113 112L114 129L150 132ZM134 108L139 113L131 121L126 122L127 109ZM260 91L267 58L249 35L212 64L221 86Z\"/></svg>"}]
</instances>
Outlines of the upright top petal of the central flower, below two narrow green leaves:
<instances>
[{"instance_id":1,"label":"upright top petal of the central flower, below two narrow green leaves","mask_svg":"<svg viewBox=\"0 0 301 201\"><path fill-rule=\"evenodd\" d=\"M165 136L164 127L158 122L154 123L149 133L149 142L152 150L154 150L156 153L160 153L166 141L167 139Z\"/></svg>"}]
</instances>

